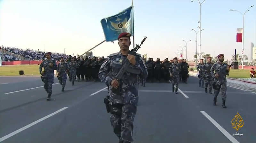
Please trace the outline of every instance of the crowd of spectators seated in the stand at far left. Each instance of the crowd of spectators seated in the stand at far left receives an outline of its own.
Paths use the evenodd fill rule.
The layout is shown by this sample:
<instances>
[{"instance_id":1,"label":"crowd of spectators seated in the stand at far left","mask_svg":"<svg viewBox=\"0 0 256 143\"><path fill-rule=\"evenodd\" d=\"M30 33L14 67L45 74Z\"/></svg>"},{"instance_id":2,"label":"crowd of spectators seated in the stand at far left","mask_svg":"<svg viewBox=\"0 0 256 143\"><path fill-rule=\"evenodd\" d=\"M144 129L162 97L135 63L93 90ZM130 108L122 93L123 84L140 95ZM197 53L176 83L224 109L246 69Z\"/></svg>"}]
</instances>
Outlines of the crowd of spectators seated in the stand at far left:
<instances>
[{"instance_id":1,"label":"crowd of spectators seated in the stand at far left","mask_svg":"<svg viewBox=\"0 0 256 143\"><path fill-rule=\"evenodd\" d=\"M43 51L39 51L39 49L31 50L31 49L18 49L18 48L11 48L11 47L3 47L3 53L2 53L2 47L0 47L0 55L3 54L3 61L14 61L14 60L44 60L45 59L45 53ZM5 51L9 52L9 54L6 54ZM18 58L19 56L23 58ZM0 57L1 57L0 56ZM59 61L61 57L68 58L68 55L63 53L52 53L52 58L54 60Z\"/></svg>"}]
</instances>

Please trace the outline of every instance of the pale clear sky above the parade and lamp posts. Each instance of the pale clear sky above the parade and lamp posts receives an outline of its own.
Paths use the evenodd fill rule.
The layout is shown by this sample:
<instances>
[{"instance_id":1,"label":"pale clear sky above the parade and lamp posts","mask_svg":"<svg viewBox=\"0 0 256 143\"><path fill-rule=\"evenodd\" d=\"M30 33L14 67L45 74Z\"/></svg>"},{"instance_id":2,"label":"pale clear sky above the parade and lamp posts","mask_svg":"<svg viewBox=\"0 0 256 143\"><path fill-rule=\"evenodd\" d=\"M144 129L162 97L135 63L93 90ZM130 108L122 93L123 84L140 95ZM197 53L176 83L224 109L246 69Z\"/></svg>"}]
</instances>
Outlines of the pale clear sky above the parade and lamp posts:
<instances>
[{"instance_id":1,"label":"pale clear sky above the parade and lamp posts","mask_svg":"<svg viewBox=\"0 0 256 143\"><path fill-rule=\"evenodd\" d=\"M202 0L201 0L202 2ZM105 40L100 20L131 6L131 0L0 0L0 45L46 52L83 54ZM148 57L177 57L193 60L199 31L199 2L195 0L134 0L135 44L144 42L138 53ZM244 55L250 59L250 44L256 46L256 0L206 0L201 5L201 49L212 57L231 59L242 54L236 43L236 28L242 28L244 13ZM199 34L198 34L199 44ZM132 48L132 46L130 47ZM187 48L187 52L186 52ZM117 42L105 42L92 50L94 56L108 56L120 50ZM179 50L179 51L178 51Z\"/></svg>"}]
</instances>

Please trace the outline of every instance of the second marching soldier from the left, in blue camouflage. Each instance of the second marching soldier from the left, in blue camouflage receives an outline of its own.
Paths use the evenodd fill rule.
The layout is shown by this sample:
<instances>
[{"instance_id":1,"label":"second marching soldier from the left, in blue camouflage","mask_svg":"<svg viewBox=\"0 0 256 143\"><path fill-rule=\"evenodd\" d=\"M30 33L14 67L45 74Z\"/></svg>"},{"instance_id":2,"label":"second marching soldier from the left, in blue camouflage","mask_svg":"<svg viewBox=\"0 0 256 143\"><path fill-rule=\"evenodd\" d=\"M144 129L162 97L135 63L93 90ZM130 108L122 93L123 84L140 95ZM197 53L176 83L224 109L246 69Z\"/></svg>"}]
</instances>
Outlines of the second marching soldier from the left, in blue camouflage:
<instances>
[{"instance_id":1,"label":"second marching soldier from the left, in blue camouflage","mask_svg":"<svg viewBox=\"0 0 256 143\"><path fill-rule=\"evenodd\" d=\"M67 81L67 70L68 70L68 63L64 61L64 57L60 58L60 63L58 64L58 79L59 83L62 86L62 92L65 89L66 81Z\"/></svg>"}]
</instances>

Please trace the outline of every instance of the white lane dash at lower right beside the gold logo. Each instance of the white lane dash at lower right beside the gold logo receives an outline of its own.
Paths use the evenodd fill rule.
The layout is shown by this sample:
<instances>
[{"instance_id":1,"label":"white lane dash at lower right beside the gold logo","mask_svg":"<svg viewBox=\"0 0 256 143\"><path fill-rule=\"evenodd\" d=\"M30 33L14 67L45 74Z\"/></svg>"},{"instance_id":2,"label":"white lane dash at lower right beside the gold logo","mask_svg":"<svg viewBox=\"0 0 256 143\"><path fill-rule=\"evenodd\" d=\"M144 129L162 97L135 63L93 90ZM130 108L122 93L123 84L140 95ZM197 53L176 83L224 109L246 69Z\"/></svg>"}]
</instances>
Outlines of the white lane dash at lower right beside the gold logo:
<instances>
[{"instance_id":1,"label":"white lane dash at lower right beside the gold logo","mask_svg":"<svg viewBox=\"0 0 256 143\"><path fill-rule=\"evenodd\" d=\"M220 126L215 120L212 119L206 112L200 111L212 124L218 128L232 143L239 143L231 134L229 134L224 128Z\"/></svg>"}]
</instances>

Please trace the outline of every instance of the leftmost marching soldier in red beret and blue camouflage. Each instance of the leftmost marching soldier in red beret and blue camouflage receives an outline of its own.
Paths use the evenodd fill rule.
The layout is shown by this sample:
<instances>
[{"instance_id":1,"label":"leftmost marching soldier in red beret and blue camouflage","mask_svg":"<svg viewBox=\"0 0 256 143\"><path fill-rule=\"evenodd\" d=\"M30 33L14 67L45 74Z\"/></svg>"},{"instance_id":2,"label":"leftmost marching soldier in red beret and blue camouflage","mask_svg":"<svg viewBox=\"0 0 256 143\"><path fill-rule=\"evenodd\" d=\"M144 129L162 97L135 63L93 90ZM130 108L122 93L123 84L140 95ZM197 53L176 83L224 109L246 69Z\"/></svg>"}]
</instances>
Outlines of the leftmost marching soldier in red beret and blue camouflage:
<instances>
[{"instance_id":1,"label":"leftmost marching soldier in red beret and blue camouflage","mask_svg":"<svg viewBox=\"0 0 256 143\"><path fill-rule=\"evenodd\" d=\"M43 62L39 66L39 72L42 75L42 81L44 82L44 89L48 93L47 101L51 100L52 95L52 83L54 83L54 70L57 70L58 67L56 65L56 62L51 59L51 52L47 52L46 54L46 60L43 60ZM44 68L44 71L42 70Z\"/></svg>"}]
</instances>

